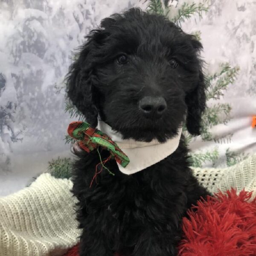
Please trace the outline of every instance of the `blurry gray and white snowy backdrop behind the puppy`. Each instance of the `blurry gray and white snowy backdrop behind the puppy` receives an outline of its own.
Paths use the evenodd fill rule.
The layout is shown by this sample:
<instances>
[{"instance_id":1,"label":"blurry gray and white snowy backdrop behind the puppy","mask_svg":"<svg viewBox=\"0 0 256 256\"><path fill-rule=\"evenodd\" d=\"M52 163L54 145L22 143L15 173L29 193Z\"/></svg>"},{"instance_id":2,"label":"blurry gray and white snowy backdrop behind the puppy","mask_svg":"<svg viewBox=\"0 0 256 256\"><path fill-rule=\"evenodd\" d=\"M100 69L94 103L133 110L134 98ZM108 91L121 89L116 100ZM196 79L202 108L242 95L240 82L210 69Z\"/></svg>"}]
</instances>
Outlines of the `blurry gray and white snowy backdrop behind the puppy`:
<instances>
[{"instance_id":1,"label":"blurry gray and white snowy backdrop behind the puppy","mask_svg":"<svg viewBox=\"0 0 256 256\"><path fill-rule=\"evenodd\" d=\"M179 6L183 0L173 1ZM188 1L186 1L188 2ZM199 2L195 0L195 2ZM233 134L219 145L256 152L256 1L211 0L201 19L182 23L185 32L201 31L206 69L220 63L239 66L239 75L220 102L232 106L227 125L213 134ZM52 158L72 157L64 136L71 121L65 113L63 79L72 51L100 20L144 0L0 0L0 196L26 186L46 171ZM214 142L191 143L194 151L215 147ZM219 163L221 166L221 163Z\"/></svg>"}]
</instances>

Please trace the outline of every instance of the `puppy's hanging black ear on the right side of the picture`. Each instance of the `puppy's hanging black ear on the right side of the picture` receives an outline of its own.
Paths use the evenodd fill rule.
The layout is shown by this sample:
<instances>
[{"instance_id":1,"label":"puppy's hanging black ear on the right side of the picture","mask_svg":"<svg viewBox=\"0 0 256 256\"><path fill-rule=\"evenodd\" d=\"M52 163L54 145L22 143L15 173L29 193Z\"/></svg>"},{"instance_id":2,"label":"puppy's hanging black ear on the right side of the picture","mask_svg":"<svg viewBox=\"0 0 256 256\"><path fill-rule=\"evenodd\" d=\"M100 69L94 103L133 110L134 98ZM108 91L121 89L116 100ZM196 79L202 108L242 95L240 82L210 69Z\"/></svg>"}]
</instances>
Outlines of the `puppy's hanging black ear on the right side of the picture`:
<instances>
[{"instance_id":1,"label":"puppy's hanging black ear on the right side of the picture","mask_svg":"<svg viewBox=\"0 0 256 256\"><path fill-rule=\"evenodd\" d=\"M197 54L203 48L202 44L194 37L190 36L192 47ZM202 71L202 61L198 61L199 76L196 87L192 92L186 95L187 105L187 118L186 127L190 134L200 135L201 130L201 116L206 107L206 84L204 79L204 73Z\"/></svg>"}]
</instances>

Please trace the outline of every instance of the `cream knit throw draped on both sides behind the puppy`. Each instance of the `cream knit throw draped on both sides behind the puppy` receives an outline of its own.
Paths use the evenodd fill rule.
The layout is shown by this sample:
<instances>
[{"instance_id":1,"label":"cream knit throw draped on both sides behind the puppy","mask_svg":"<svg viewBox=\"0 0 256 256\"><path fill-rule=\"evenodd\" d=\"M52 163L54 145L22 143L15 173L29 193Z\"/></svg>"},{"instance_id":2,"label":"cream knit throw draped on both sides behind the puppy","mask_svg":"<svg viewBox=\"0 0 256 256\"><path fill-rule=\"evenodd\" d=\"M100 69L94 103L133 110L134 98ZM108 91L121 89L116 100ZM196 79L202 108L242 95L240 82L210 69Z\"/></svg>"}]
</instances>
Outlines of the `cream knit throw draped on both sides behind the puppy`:
<instances>
[{"instance_id":1,"label":"cream knit throw draped on both sides behind the puppy","mask_svg":"<svg viewBox=\"0 0 256 256\"><path fill-rule=\"evenodd\" d=\"M256 154L224 169L193 169L210 192L245 188L256 196ZM72 182L44 173L29 187L0 198L0 256L59 256L78 242Z\"/></svg>"}]
</instances>

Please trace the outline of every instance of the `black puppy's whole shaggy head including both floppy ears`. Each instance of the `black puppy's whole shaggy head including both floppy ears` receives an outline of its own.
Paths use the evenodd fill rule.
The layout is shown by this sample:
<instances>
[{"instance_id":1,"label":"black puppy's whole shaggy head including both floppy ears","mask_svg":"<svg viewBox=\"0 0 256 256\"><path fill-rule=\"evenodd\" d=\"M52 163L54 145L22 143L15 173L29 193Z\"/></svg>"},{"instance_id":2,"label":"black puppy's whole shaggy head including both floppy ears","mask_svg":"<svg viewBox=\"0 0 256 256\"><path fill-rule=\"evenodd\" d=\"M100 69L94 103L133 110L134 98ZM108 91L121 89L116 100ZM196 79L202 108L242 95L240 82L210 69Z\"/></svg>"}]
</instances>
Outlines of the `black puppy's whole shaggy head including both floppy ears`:
<instances>
[{"instance_id":1,"label":"black puppy's whole shaggy head including both floppy ears","mask_svg":"<svg viewBox=\"0 0 256 256\"><path fill-rule=\"evenodd\" d=\"M205 108L201 44L162 16L131 9L102 20L68 76L68 96L91 125L98 115L125 139L160 142ZM186 121L185 121L186 120Z\"/></svg>"}]
</instances>

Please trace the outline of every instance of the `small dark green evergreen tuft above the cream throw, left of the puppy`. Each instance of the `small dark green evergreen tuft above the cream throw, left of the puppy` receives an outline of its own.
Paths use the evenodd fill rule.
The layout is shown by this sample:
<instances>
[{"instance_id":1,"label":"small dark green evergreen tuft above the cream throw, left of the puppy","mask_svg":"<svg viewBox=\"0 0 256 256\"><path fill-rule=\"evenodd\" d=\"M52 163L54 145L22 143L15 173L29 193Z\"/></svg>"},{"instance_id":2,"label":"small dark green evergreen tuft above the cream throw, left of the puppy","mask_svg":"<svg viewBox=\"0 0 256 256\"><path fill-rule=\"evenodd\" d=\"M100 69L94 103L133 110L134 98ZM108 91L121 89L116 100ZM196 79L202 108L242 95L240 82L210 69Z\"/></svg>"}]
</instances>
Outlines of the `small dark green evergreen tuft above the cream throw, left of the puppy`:
<instances>
[{"instance_id":1,"label":"small dark green evergreen tuft above the cream throw, left of the puppy","mask_svg":"<svg viewBox=\"0 0 256 256\"><path fill-rule=\"evenodd\" d=\"M71 166L72 161L70 158L58 157L57 159L52 159L52 161L49 162L48 171L56 178L69 179L71 177Z\"/></svg>"}]
</instances>

